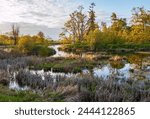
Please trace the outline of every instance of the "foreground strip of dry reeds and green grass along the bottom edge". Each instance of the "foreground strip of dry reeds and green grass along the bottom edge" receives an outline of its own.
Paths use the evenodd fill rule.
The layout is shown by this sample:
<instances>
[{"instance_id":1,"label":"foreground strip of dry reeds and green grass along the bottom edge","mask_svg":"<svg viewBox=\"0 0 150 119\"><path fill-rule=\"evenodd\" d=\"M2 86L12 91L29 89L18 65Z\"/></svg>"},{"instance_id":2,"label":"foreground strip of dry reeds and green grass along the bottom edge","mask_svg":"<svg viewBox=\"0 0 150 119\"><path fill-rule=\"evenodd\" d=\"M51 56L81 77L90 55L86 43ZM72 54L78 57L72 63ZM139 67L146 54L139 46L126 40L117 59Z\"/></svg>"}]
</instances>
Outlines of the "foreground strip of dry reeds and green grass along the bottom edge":
<instances>
[{"instance_id":1,"label":"foreground strip of dry reeds and green grass along the bottom edge","mask_svg":"<svg viewBox=\"0 0 150 119\"><path fill-rule=\"evenodd\" d=\"M23 72L20 74L24 77ZM36 74L35 74L36 76ZM4 102L145 102L150 101L149 80L118 80L114 77L103 80L102 78L82 75L82 77L62 78L53 82L53 78L38 79L30 73L26 73L26 85L32 89L35 82L34 92L32 90L17 91L10 90L0 85L0 101ZM32 78L33 77L33 78ZM33 80L32 80L33 79ZM34 80L36 79L36 80ZM24 82L24 79L20 78ZM141 85L142 81L142 85ZM40 82L40 83L38 83ZM46 85L45 85L46 84ZM44 88L43 88L44 86ZM37 89L37 87L39 87ZM41 88L42 87L42 88Z\"/></svg>"}]
</instances>

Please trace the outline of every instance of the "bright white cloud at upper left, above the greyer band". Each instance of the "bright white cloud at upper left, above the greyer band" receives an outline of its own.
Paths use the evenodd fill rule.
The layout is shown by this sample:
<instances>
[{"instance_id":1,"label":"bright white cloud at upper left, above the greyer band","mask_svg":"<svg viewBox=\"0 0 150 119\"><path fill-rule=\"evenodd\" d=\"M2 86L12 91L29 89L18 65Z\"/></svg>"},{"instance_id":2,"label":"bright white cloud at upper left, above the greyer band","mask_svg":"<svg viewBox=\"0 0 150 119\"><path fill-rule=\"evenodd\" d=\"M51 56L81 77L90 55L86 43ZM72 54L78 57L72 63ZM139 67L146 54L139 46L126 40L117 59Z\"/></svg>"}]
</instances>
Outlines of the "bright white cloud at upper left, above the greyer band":
<instances>
[{"instance_id":1,"label":"bright white cloud at upper left, above the greyer band","mask_svg":"<svg viewBox=\"0 0 150 119\"><path fill-rule=\"evenodd\" d=\"M0 0L0 23L23 22L62 27L80 3L75 0Z\"/></svg>"}]
</instances>

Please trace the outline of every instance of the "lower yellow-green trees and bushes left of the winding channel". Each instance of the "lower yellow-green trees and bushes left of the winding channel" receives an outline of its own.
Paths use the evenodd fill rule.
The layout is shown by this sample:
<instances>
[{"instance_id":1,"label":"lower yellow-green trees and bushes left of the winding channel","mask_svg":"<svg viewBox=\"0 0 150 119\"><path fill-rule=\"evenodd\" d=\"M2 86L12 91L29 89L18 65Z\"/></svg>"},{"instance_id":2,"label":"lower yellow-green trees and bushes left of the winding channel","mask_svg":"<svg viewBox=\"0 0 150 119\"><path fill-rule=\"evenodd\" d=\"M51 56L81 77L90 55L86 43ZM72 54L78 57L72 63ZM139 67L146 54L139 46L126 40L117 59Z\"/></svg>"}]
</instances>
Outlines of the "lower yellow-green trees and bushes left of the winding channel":
<instances>
[{"instance_id":1,"label":"lower yellow-green trees and bushes left of the winding channel","mask_svg":"<svg viewBox=\"0 0 150 119\"><path fill-rule=\"evenodd\" d=\"M55 51L48 47L51 42L41 31L33 36L20 35L20 27L17 24L12 25L10 32L0 35L0 45L8 45L15 54L50 56L55 54Z\"/></svg>"}]
</instances>

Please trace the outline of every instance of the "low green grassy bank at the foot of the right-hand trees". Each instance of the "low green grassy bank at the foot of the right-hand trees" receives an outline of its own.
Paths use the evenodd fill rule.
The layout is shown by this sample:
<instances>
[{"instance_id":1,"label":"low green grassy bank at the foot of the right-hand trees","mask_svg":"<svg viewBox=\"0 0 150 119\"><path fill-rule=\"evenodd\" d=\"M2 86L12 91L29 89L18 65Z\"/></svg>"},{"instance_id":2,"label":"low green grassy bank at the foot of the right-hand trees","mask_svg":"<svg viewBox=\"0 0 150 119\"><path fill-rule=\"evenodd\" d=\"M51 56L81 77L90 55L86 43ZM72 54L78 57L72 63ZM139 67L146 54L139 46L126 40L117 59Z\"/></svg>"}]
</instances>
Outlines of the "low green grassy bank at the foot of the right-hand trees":
<instances>
[{"instance_id":1,"label":"low green grassy bank at the foot of the right-hand trees","mask_svg":"<svg viewBox=\"0 0 150 119\"><path fill-rule=\"evenodd\" d=\"M89 47L87 43L75 43L67 44L60 48L60 50L66 52L82 53L82 52L99 52L106 51L114 54L124 54L124 53L134 53L135 51L150 51L150 44L133 44L133 43L104 43L95 44L93 50Z\"/></svg>"}]
</instances>

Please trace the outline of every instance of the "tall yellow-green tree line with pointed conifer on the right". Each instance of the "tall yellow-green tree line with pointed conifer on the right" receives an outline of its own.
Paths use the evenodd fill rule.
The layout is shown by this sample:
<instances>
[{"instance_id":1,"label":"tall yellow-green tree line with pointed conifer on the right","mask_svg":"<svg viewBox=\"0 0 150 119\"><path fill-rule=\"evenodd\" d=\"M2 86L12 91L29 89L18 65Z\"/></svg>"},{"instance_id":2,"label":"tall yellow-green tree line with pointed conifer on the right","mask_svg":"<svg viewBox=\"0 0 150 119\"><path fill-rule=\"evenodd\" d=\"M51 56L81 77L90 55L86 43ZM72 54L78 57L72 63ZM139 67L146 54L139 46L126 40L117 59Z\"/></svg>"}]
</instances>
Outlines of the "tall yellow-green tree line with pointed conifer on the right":
<instances>
[{"instance_id":1,"label":"tall yellow-green tree line with pointed conifer on the right","mask_svg":"<svg viewBox=\"0 0 150 119\"><path fill-rule=\"evenodd\" d=\"M126 18L120 18L113 12L111 25L96 22L95 3L91 3L87 13L83 6L69 15L60 34L61 41L72 45L86 45L91 50L105 48L149 47L150 45L150 11L144 7L132 9L130 24Z\"/></svg>"}]
</instances>

